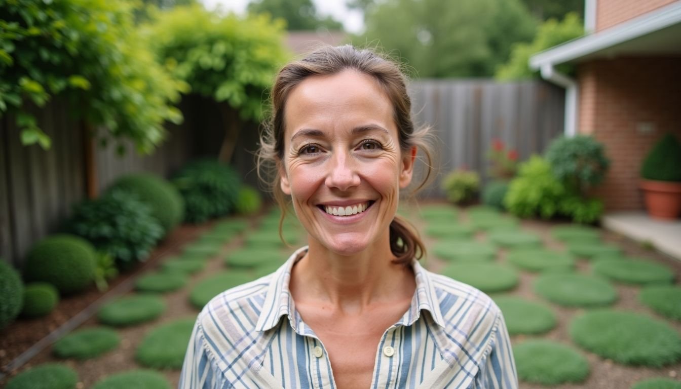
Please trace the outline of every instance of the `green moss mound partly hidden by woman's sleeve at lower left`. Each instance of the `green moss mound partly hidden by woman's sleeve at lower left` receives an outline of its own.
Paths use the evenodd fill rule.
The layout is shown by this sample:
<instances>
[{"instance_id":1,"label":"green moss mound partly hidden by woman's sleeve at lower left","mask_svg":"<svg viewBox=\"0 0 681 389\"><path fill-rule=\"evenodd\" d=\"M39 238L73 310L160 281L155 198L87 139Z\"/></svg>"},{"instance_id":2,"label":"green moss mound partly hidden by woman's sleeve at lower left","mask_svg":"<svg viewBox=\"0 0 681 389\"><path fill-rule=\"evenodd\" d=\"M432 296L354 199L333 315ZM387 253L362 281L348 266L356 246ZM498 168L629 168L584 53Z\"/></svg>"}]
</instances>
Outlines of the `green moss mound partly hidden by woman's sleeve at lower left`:
<instances>
[{"instance_id":1,"label":"green moss mound partly hidden by woman's sleeve at lower left","mask_svg":"<svg viewBox=\"0 0 681 389\"><path fill-rule=\"evenodd\" d=\"M181 319L151 330L137 347L135 359L153 369L180 369L194 322Z\"/></svg>"}]
</instances>

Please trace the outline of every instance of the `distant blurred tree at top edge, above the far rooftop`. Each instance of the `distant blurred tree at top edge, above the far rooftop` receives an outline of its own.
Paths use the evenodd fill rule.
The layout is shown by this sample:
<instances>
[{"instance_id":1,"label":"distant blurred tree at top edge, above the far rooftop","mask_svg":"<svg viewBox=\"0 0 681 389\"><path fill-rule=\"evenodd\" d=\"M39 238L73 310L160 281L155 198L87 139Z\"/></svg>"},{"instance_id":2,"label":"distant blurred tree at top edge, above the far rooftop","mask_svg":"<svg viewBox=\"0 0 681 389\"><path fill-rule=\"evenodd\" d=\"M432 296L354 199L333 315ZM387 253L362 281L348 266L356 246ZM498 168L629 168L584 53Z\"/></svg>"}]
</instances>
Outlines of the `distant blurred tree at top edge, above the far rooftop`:
<instances>
[{"instance_id":1,"label":"distant blurred tree at top edge, above the far rooftop","mask_svg":"<svg viewBox=\"0 0 681 389\"><path fill-rule=\"evenodd\" d=\"M254 14L268 13L274 18L286 20L289 31L315 30L319 27L343 29L343 25L331 16L320 16L312 0L256 0L249 3L248 10Z\"/></svg>"}]
</instances>

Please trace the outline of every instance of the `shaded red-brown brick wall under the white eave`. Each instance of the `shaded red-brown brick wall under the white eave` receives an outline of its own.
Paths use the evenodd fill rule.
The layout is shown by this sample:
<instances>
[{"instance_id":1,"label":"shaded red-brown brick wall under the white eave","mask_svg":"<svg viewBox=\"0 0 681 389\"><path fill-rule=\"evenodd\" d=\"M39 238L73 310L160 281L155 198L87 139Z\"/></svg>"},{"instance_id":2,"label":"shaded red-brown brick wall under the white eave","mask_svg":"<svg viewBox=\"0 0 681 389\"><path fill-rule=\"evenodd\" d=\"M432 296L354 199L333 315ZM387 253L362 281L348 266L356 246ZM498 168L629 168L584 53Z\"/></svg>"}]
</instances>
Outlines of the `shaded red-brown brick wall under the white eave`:
<instances>
[{"instance_id":1,"label":"shaded red-brown brick wall under the white eave","mask_svg":"<svg viewBox=\"0 0 681 389\"><path fill-rule=\"evenodd\" d=\"M578 68L579 131L603 142L611 160L597 191L609 210L642 209L638 189L642 160L666 132L681 139L678 69L681 57L603 59ZM654 130L639 131L642 123Z\"/></svg>"}]
</instances>

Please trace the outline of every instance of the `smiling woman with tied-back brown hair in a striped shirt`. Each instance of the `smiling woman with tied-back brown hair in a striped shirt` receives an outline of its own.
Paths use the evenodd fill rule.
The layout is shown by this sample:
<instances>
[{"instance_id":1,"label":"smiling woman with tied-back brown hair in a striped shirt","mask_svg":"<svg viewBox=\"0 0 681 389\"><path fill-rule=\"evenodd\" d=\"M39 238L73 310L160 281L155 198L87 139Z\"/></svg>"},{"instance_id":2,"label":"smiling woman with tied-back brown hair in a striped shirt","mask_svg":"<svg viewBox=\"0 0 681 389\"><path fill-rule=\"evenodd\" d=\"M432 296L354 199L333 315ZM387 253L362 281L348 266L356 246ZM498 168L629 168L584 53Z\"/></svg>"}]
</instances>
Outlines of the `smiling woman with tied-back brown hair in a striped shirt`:
<instances>
[{"instance_id":1,"label":"smiling woman with tied-back brown hair in a striped shirt","mask_svg":"<svg viewBox=\"0 0 681 389\"><path fill-rule=\"evenodd\" d=\"M427 135L410 109L398 67L368 50L279 72L259 157L308 247L206 305L180 388L518 386L499 309L419 266L424 245L395 214Z\"/></svg>"}]
</instances>

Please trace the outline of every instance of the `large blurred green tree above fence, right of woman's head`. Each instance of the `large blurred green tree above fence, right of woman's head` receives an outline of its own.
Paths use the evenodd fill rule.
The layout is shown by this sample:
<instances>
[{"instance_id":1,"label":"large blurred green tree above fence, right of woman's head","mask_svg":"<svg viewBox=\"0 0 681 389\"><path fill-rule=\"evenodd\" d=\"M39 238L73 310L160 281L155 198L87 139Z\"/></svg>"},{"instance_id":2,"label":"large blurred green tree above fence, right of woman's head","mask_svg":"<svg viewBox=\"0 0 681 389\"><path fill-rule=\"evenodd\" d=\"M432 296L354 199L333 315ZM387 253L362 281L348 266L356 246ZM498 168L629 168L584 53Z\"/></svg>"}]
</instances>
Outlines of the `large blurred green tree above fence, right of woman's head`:
<instances>
[{"instance_id":1,"label":"large blurred green tree above fence, right of woman's head","mask_svg":"<svg viewBox=\"0 0 681 389\"><path fill-rule=\"evenodd\" d=\"M366 32L421 78L491 76L535 20L519 0L387 0L368 3Z\"/></svg>"}]
</instances>

